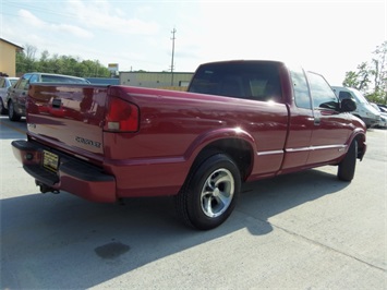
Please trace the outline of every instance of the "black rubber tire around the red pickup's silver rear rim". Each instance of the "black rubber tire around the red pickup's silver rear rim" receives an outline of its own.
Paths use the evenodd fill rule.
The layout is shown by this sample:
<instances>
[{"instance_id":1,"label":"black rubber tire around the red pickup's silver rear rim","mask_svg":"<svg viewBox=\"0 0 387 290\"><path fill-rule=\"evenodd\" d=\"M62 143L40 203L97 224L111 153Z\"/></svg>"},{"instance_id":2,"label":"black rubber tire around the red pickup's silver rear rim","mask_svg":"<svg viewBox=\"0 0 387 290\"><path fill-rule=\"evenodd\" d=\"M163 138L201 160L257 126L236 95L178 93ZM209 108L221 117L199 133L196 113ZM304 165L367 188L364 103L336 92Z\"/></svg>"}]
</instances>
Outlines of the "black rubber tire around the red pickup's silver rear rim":
<instances>
[{"instance_id":1,"label":"black rubber tire around the red pickup's silver rear rim","mask_svg":"<svg viewBox=\"0 0 387 290\"><path fill-rule=\"evenodd\" d=\"M211 153L214 154L214 153ZM190 171L181 191L174 196L176 209L183 223L198 230L210 230L221 225L235 207L241 191L241 174L235 162L226 154L218 153L208 156L205 160L195 162ZM234 179L234 193L227 210L216 217L209 218L201 209L201 191L208 176L217 168L227 168Z\"/></svg>"}]
</instances>

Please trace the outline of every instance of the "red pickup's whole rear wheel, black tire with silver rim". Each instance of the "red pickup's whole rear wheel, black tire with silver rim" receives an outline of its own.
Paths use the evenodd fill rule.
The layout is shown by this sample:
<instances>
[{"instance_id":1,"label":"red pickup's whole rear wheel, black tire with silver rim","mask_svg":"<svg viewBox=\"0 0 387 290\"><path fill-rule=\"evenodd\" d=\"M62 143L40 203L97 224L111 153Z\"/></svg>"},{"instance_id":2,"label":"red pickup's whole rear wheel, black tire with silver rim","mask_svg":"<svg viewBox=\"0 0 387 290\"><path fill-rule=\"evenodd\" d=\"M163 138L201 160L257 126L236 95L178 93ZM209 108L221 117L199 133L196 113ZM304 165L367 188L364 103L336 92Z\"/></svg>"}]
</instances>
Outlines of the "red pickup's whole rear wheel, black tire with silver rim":
<instances>
[{"instance_id":1,"label":"red pickup's whole rear wheel, black tire with silver rim","mask_svg":"<svg viewBox=\"0 0 387 290\"><path fill-rule=\"evenodd\" d=\"M214 229L231 215L240 191L238 166L229 156L216 154L190 172L176 196L177 212L185 225Z\"/></svg>"}]
</instances>

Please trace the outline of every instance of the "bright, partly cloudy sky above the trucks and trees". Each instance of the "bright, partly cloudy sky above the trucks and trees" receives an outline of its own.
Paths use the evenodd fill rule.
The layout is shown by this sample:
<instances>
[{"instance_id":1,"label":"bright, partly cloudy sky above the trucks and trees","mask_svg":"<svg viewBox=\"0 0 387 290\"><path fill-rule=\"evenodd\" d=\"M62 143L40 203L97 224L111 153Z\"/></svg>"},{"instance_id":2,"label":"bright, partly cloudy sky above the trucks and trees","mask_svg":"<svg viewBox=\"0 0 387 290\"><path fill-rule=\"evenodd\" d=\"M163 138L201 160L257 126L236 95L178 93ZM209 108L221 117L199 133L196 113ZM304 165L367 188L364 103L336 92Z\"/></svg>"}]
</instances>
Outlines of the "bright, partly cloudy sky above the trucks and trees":
<instances>
[{"instance_id":1,"label":"bright, partly cloudy sky above the trucks and trees","mask_svg":"<svg viewBox=\"0 0 387 290\"><path fill-rule=\"evenodd\" d=\"M0 37L120 71L269 59L340 85L387 40L387 0L0 0Z\"/></svg>"}]
</instances>

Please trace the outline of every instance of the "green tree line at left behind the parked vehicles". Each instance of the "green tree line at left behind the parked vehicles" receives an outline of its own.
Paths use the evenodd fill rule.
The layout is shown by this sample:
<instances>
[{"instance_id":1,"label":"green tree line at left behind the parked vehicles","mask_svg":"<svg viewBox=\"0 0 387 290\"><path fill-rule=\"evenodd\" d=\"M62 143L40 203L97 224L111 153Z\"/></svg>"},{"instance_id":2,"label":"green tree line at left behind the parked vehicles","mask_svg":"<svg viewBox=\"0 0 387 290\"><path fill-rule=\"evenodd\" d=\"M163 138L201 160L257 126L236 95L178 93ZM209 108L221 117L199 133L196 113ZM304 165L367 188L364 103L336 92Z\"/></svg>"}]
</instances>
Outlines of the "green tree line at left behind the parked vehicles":
<instances>
[{"instance_id":1,"label":"green tree line at left behind the parked vehicles","mask_svg":"<svg viewBox=\"0 0 387 290\"><path fill-rule=\"evenodd\" d=\"M81 77L110 77L109 70L98 60L81 60L72 56L58 56L44 50L40 58L35 57L36 48L25 46L16 53L16 74L26 72L45 72L74 75Z\"/></svg>"}]
</instances>

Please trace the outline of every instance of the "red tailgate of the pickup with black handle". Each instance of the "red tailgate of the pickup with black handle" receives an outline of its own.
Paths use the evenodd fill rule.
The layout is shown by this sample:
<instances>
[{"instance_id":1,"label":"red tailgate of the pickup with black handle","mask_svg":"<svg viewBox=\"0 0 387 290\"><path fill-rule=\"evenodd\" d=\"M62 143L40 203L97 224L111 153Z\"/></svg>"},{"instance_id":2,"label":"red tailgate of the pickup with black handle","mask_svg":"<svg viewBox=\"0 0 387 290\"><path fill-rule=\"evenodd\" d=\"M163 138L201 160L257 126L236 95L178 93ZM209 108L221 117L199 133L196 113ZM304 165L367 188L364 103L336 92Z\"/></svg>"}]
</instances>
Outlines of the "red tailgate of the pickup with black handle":
<instances>
[{"instance_id":1,"label":"red tailgate of the pickup with black handle","mask_svg":"<svg viewBox=\"0 0 387 290\"><path fill-rule=\"evenodd\" d=\"M28 136L97 162L104 154L107 90L107 86L96 85L32 85L27 98Z\"/></svg>"}]
</instances>

